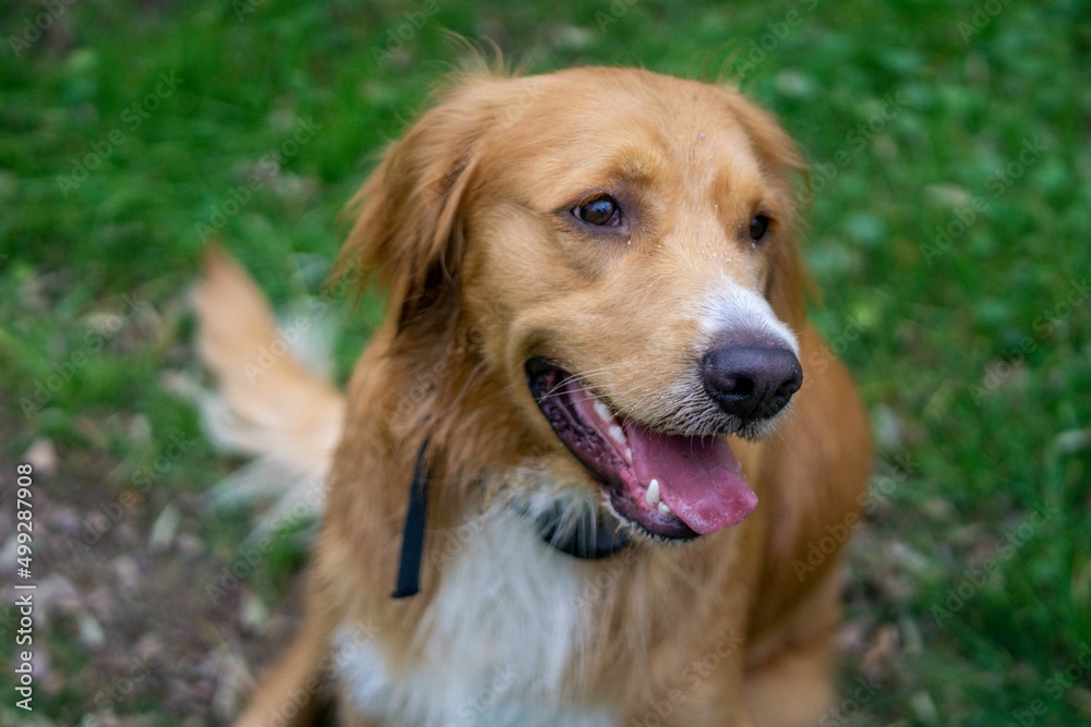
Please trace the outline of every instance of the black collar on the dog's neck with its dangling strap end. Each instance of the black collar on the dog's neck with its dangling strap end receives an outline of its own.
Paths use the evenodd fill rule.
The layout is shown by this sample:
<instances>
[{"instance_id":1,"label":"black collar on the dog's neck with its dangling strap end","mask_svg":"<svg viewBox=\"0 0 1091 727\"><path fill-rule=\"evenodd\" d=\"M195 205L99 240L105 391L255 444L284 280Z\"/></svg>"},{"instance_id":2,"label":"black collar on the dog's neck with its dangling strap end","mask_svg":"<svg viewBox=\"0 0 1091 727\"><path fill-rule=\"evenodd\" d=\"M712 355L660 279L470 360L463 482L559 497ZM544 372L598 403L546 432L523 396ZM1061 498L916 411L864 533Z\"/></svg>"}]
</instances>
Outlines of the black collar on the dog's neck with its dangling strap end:
<instances>
[{"instance_id":1,"label":"black collar on the dog's neck with its dangling strap end","mask_svg":"<svg viewBox=\"0 0 1091 727\"><path fill-rule=\"evenodd\" d=\"M409 486L409 507L401 531L401 557L394 598L406 598L420 591L420 561L424 555L424 529L428 524L428 440L417 452ZM562 524L564 525L562 530ZM587 512L572 520L561 505L538 516L535 520L538 534L551 548L580 560L598 560L618 553L628 545L628 533L621 524L598 512Z\"/></svg>"}]
</instances>

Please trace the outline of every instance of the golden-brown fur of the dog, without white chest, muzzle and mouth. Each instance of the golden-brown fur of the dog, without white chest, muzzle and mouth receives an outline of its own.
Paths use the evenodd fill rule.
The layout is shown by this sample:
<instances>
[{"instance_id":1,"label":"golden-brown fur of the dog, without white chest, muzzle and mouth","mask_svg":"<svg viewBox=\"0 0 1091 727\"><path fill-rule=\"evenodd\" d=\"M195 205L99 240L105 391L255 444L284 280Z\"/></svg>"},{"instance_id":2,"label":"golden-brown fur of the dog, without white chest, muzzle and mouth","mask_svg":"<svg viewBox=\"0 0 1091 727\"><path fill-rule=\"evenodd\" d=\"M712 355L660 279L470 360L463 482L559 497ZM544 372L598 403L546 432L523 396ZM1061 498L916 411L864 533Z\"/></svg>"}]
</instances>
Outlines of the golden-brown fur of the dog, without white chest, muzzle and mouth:
<instances>
[{"instance_id":1,"label":"golden-brown fur of the dog, without white chest, muzzle and mouth","mask_svg":"<svg viewBox=\"0 0 1091 727\"><path fill-rule=\"evenodd\" d=\"M799 339L804 372L776 432L731 438L759 505L740 524L692 542L637 537L602 560L571 559L587 582L609 578L579 606L588 627L554 696L606 710L612 724L640 724L655 695L667 699L687 665L729 638L715 669L657 724L814 724L832 695L840 559L829 554L804 573L798 566L828 525L854 521L871 448L848 374L804 317L793 184L802 171L776 121L731 88L574 69L470 75L446 90L355 201L341 263L349 275L372 275L389 307L345 395L304 625L239 724L307 724L307 710L286 704L314 702L320 680L343 724L381 724L358 713L328 674L339 629L367 625L394 678L409 674L424 658L421 625L442 608L433 602L449 559L434 557L445 544L436 534L517 496L511 490L524 480L509 473L528 468L547 474L535 486L598 493L536 405L526 360L548 351L626 417L669 429L676 424L661 392L687 380L693 352L709 343L698 312L726 284L771 304ZM627 239L603 240L566 216L603 192L636 210ZM741 233L756 209L772 220L762 245ZM260 305L235 307L232 295L248 284L230 262L209 256L202 346L221 375L248 359L232 329L260 331L264 340L245 344L255 349L274 336ZM327 417L340 415L310 375L287 363L278 375L276 388L293 402L286 421L309 416L298 402L312 389ZM236 385L225 396L233 407L268 392ZM409 482L425 438L430 550L420 594L394 601ZM555 557L570 567L567 556Z\"/></svg>"}]
</instances>

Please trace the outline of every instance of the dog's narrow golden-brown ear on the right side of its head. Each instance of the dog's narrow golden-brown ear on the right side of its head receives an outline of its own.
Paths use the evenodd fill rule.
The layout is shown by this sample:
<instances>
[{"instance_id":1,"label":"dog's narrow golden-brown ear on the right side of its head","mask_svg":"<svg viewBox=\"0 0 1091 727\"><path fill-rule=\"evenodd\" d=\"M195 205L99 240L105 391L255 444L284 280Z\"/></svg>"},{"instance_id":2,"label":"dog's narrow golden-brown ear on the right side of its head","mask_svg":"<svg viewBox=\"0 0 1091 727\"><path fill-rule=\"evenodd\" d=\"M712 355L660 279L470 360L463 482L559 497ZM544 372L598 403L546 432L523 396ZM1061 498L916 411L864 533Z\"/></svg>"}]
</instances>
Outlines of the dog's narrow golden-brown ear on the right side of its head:
<instances>
[{"instance_id":1,"label":"dog's narrow golden-brown ear on the right side of its head","mask_svg":"<svg viewBox=\"0 0 1091 727\"><path fill-rule=\"evenodd\" d=\"M802 227L800 207L810 196L807 168L799 147L774 116L731 90L736 116L746 129L766 172L776 181L783 201L782 234L772 251L766 298L781 320L800 330L806 317L806 300L815 294L814 282L803 263L796 238ZM802 182L801 191L798 184Z\"/></svg>"}]
</instances>

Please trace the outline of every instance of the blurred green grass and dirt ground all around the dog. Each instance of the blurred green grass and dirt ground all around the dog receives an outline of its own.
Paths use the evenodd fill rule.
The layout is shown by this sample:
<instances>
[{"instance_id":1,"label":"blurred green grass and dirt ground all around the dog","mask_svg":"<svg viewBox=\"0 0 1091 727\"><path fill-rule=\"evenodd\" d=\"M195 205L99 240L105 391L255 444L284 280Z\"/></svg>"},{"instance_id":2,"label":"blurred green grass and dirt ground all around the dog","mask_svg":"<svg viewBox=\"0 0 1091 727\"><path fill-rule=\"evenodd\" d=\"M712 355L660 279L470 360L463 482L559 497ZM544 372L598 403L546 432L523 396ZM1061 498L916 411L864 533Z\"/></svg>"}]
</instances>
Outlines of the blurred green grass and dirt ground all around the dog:
<instances>
[{"instance_id":1,"label":"blurred green grass and dirt ground all around the dog","mask_svg":"<svg viewBox=\"0 0 1091 727\"><path fill-rule=\"evenodd\" d=\"M804 148L814 318L879 444L844 701L823 724L1091 724L1078 0L4 3L0 573L14 463L31 459L51 580L33 715L14 707L17 619L0 606L0 722L216 724L290 632L296 547L223 603L205 593L250 524L202 505L238 461L173 385L195 371L184 292L208 228L278 304L319 292L343 204L457 60L446 29L532 72L734 78ZM287 145L300 123L313 133ZM341 375L377 306L326 322Z\"/></svg>"}]
</instances>

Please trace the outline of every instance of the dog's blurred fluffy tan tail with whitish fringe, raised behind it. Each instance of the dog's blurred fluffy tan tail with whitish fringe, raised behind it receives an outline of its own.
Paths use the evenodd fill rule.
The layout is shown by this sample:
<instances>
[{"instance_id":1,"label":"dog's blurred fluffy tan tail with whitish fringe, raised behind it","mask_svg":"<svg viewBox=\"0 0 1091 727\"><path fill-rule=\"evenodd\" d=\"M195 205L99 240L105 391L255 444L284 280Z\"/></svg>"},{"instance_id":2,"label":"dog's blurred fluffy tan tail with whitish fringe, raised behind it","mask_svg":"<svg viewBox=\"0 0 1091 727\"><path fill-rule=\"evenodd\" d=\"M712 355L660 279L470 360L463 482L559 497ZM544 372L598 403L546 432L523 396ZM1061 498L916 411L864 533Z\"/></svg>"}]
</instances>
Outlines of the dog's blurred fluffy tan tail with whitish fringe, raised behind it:
<instances>
[{"instance_id":1,"label":"dog's blurred fluffy tan tail with whitish fringe, raised behind it","mask_svg":"<svg viewBox=\"0 0 1091 727\"><path fill-rule=\"evenodd\" d=\"M340 392L305 368L289 343L321 329L320 322L297 319L291 335L279 331L254 281L214 247L194 307L197 349L218 384L197 395L209 438L256 458L216 488L215 501L269 501L259 530L295 530L321 513L345 411Z\"/></svg>"}]
</instances>

